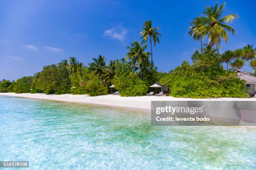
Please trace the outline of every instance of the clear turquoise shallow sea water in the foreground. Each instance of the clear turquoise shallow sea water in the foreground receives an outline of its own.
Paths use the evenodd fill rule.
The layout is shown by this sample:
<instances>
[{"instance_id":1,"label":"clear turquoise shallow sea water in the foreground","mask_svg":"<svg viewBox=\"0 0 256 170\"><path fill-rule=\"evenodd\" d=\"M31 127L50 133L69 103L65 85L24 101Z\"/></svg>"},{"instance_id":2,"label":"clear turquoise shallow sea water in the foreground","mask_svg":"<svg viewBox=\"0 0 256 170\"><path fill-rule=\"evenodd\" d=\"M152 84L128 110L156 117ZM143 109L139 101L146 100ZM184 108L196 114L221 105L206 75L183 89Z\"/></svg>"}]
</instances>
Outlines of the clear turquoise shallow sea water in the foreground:
<instances>
[{"instance_id":1,"label":"clear turquoise shallow sea water in the foreground","mask_svg":"<svg viewBox=\"0 0 256 170\"><path fill-rule=\"evenodd\" d=\"M256 127L157 127L143 112L0 96L0 161L29 161L23 170L251 170Z\"/></svg>"}]
</instances>

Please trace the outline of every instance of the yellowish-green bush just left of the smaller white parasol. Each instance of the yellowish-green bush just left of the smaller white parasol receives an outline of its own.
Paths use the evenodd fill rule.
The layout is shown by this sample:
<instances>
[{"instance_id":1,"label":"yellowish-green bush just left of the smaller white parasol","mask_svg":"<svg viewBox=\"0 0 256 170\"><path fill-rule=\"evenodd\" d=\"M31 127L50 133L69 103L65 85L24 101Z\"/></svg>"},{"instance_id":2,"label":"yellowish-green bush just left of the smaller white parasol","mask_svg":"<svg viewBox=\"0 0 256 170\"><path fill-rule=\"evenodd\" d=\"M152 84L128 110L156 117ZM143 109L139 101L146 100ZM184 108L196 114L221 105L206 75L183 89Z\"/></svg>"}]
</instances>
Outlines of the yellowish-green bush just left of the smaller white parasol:
<instances>
[{"instance_id":1,"label":"yellowish-green bush just left of the smaller white parasol","mask_svg":"<svg viewBox=\"0 0 256 170\"><path fill-rule=\"evenodd\" d=\"M100 82L94 72L89 75L89 80L85 84L85 90L90 96L108 94L108 88Z\"/></svg>"}]
</instances>

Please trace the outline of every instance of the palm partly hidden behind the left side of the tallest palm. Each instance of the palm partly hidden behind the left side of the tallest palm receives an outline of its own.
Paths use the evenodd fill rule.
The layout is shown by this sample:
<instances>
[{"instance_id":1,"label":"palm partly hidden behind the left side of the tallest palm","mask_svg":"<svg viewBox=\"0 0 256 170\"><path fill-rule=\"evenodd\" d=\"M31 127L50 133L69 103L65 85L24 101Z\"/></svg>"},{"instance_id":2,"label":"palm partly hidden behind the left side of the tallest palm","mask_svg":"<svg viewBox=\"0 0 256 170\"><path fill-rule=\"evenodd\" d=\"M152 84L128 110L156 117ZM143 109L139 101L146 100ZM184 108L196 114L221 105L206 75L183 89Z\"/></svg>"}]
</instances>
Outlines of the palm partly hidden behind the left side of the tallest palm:
<instances>
[{"instance_id":1,"label":"palm partly hidden behind the left side of the tallest palm","mask_svg":"<svg viewBox=\"0 0 256 170\"><path fill-rule=\"evenodd\" d=\"M203 42L203 32L200 32L199 28L203 25L205 25L205 17L200 16L194 19L189 25L192 25L189 27L189 35L193 37L194 40L200 40L201 42L201 54L203 51L202 42Z\"/></svg>"}]
</instances>

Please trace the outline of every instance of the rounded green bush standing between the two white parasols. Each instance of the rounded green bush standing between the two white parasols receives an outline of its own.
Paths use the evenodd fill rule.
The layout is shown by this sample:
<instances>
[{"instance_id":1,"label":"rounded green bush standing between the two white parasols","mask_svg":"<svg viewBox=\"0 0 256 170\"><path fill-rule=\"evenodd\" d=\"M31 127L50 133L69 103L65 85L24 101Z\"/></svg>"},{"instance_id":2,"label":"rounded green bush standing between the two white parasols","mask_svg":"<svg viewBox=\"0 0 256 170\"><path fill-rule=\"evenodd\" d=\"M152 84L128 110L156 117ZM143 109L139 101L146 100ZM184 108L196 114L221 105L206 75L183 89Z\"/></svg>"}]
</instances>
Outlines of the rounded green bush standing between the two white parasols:
<instances>
[{"instance_id":1,"label":"rounded green bush standing between the two white parasols","mask_svg":"<svg viewBox=\"0 0 256 170\"><path fill-rule=\"evenodd\" d=\"M146 82L131 70L128 63L117 63L112 83L121 96L141 96L148 90Z\"/></svg>"}]
</instances>

